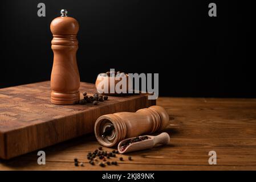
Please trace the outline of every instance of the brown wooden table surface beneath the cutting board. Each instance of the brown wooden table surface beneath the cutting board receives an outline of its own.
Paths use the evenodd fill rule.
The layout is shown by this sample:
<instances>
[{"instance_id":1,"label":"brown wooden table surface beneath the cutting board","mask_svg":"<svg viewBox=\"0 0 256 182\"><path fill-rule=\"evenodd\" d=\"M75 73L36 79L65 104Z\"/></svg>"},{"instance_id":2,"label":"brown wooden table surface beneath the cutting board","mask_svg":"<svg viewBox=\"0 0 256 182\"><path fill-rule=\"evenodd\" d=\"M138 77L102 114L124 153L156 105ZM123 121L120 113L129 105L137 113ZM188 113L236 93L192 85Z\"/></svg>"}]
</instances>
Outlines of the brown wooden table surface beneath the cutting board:
<instances>
[{"instance_id":1,"label":"brown wooden table surface beneath the cutting board","mask_svg":"<svg viewBox=\"0 0 256 182\"><path fill-rule=\"evenodd\" d=\"M38 165L37 151L1 160L1 170L256 170L256 99L159 98L170 124L168 146L132 152L118 166L91 166L86 155L99 144L94 134L43 148L46 164ZM111 148L104 150L112 151ZM209 165L209 151L217 164ZM129 161L128 156L132 156ZM74 158L84 163L75 167ZM118 160L118 158L115 158Z\"/></svg>"}]
</instances>

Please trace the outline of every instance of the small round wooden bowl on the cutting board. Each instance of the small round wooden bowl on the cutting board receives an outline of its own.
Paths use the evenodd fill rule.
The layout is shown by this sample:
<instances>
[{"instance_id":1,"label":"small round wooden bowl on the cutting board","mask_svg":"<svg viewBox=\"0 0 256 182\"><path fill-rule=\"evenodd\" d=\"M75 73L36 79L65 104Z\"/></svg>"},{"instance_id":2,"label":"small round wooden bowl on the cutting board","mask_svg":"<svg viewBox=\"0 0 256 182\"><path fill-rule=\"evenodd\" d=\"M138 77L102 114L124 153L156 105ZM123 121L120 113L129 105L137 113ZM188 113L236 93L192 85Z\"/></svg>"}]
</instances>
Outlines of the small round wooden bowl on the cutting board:
<instances>
[{"instance_id":1,"label":"small round wooden bowl on the cutting board","mask_svg":"<svg viewBox=\"0 0 256 182\"><path fill-rule=\"evenodd\" d=\"M115 90L116 84L118 82L120 82L121 80L123 80L123 78L126 78L126 81L125 81L126 82L126 89L125 89L126 93L117 93ZM130 88L129 88L128 83L129 83L129 76L127 74L125 74L122 77L109 77L105 73L100 73L97 76L95 86L96 86L96 90L98 93L108 95L108 96L119 96L119 95L129 93ZM104 86L108 86L108 88L104 89ZM122 86L120 88L122 88ZM105 92L105 90L107 90L107 92Z\"/></svg>"}]
</instances>

